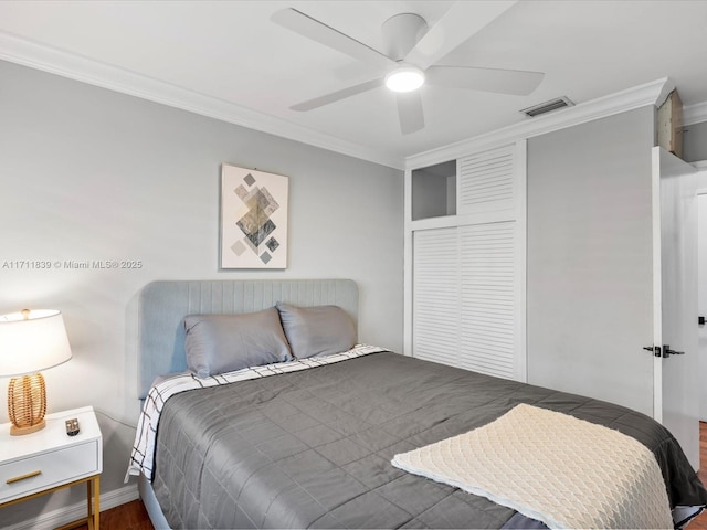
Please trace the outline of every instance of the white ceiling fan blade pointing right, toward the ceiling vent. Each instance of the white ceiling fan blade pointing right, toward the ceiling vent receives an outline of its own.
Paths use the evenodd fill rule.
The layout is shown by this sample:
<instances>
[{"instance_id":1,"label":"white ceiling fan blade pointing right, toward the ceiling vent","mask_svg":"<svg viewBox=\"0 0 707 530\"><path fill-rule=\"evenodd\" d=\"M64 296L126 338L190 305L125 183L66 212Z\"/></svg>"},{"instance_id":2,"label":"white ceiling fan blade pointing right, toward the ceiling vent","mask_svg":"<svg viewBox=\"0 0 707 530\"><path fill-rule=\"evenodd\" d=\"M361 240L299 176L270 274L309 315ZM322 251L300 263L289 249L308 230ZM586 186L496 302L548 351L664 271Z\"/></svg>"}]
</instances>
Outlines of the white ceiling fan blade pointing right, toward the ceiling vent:
<instances>
[{"instance_id":1,"label":"white ceiling fan blade pointing right, toward the ceiling vent","mask_svg":"<svg viewBox=\"0 0 707 530\"><path fill-rule=\"evenodd\" d=\"M537 88L545 74L523 70L430 66L425 76L431 85L526 96Z\"/></svg>"}]
</instances>

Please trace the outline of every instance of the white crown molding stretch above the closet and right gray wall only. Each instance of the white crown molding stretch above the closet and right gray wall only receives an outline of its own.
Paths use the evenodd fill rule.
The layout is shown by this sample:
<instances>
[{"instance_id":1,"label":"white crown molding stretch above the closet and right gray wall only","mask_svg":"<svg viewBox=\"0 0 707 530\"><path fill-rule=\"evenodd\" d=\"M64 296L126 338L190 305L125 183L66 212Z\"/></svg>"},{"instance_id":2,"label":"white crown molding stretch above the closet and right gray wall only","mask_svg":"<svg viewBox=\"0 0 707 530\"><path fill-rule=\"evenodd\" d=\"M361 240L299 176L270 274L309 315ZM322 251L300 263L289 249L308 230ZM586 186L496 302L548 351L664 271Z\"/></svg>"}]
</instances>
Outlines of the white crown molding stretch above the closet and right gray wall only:
<instances>
[{"instance_id":1,"label":"white crown molding stretch above the closet and right gray wall only","mask_svg":"<svg viewBox=\"0 0 707 530\"><path fill-rule=\"evenodd\" d=\"M674 87L673 82L664 77L590 102L580 103L573 107L558 110L557 113L548 113L535 118L527 118L525 121L408 157L405 159L405 169L424 168L446 160L454 160L471 152L490 149L524 138L545 135L553 130L584 124L647 105L656 105L658 102L664 102Z\"/></svg>"}]
</instances>

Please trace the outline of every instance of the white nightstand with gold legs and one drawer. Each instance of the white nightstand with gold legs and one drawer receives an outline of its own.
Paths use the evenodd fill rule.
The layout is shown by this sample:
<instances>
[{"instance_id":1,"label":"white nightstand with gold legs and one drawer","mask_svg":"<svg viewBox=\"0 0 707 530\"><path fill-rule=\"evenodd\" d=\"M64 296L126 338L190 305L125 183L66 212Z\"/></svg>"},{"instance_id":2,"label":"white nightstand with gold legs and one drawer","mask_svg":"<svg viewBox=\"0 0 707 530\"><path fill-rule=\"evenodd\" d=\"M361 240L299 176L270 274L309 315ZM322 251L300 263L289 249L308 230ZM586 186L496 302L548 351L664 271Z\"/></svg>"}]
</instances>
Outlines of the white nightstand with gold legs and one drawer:
<instances>
[{"instance_id":1,"label":"white nightstand with gold legs and one drawer","mask_svg":"<svg viewBox=\"0 0 707 530\"><path fill-rule=\"evenodd\" d=\"M74 417L81 431L68 436L65 422ZM48 414L45 420L45 428L23 436L10 436L9 423L0 425L0 509L86 484L87 517L62 528L88 524L98 530L103 442L93 407Z\"/></svg>"}]
</instances>

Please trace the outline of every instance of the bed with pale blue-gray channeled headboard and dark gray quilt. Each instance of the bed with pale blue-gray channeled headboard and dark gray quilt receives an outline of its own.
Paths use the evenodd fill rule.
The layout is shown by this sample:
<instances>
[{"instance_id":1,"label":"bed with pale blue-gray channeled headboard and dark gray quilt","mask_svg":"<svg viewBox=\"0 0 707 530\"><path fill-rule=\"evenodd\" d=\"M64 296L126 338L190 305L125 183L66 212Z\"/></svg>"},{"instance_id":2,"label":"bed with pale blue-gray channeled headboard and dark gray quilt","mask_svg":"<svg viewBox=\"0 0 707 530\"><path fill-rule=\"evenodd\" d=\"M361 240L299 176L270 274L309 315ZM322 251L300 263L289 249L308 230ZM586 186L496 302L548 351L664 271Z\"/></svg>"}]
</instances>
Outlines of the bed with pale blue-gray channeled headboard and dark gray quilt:
<instances>
[{"instance_id":1,"label":"bed with pale blue-gray channeled headboard and dark gray quilt","mask_svg":"<svg viewBox=\"0 0 707 530\"><path fill-rule=\"evenodd\" d=\"M346 315L356 337L358 288L347 279L155 282L143 289L140 399L158 402L159 418L156 409L144 409L152 412L140 417L130 469L139 473L156 528L559 528L525 507L393 465L441 441L485 433L525 406L582 428L609 427L603 432L646 451L658 474L648 486L666 497L669 526L680 527L707 504L669 432L643 414L588 398L366 344L194 377L186 344L199 328L186 317L202 325L273 308L292 351L304 351L300 342L310 340L293 327L302 315L337 329L337 337L351 333L337 328ZM321 308L336 308L338 320L319 316ZM152 445L145 449L138 441L148 437ZM580 455L584 449L571 459ZM540 486L552 475L559 473ZM650 508L641 495L629 494L637 511ZM582 511L582 502L568 511Z\"/></svg>"}]
</instances>

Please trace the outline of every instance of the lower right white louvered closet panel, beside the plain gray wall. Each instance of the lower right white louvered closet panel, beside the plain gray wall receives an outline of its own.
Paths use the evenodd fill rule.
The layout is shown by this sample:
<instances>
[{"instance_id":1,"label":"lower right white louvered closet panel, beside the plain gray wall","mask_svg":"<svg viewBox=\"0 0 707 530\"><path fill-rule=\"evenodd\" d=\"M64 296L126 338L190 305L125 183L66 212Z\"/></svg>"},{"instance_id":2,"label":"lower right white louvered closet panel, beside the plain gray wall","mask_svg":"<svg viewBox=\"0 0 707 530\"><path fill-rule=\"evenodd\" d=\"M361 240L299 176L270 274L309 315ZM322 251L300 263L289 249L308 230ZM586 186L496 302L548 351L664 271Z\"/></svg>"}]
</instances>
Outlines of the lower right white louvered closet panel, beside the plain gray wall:
<instances>
[{"instance_id":1,"label":"lower right white louvered closet panel, beside the plain gray wall","mask_svg":"<svg viewBox=\"0 0 707 530\"><path fill-rule=\"evenodd\" d=\"M515 222L460 227L458 365L515 377Z\"/></svg>"}]
</instances>

